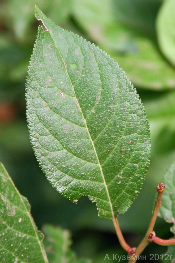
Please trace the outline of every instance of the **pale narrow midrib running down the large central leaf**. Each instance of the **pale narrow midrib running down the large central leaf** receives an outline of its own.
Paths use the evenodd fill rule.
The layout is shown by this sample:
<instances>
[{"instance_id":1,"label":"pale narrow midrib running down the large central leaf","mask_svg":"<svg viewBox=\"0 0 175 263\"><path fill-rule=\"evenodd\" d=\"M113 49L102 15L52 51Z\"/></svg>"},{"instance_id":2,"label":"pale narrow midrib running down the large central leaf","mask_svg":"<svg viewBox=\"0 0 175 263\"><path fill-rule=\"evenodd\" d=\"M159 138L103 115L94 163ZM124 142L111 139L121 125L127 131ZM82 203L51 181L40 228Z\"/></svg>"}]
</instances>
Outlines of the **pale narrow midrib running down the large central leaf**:
<instances>
[{"instance_id":1,"label":"pale narrow midrib running down the large central leaf","mask_svg":"<svg viewBox=\"0 0 175 263\"><path fill-rule=\"evenodd\" d=\"M42 21L42 20L41 20L41 21ZM42 23L43 23L43 21L42 21ZM44 23L43 23L43 24L44 24ZM47 30L48 30L48 29L47 29ZM48 30L48 31L49 31L49 30ZM49 32L49 33L50 33L50 32ZM50 34L50 36L51 36L51 34ZM52 38L52 36L51 36L51 38ZM52 39L53 39L53 38L52 38ZM53 39L53 41L54 41L54 39ZM54 43L55 43L55 41L54 41ZM69 73L68 73L68 70L67 70L65 61L64 61L64 59L63 59L63 57L62 57L62 55L61 55L61 53L60 53L60 50L58 49L56 43L55 43L55 47L57 48L57 50L58 50L58 52L59 52L59 54L60 54L60 57L61 57L61 59L62 59L62 62L63 62L63 64L64 64L64 66L65 66L65 70L66 70L68 79L69 79L69 81L70 81L70 83L71 83L71 85L72 85L72 90L73 90L73 93L75 94L75 98L76 98L76 100L77 100L77 106L78 106L78 108L81 110L81 107L80 107L79 102L78 102L78 99L77 99L77 97L76 97L75 89L74 89L74 86L73 86L72 81L71 81L71 79L70 79L70 76L69 76ZM87 122L86 122L86 119L84 118L84 115L83 115L82 110L81 110L81 114L82 114L84 123L85 123L85 125L86 125L87 133L88 133L89 139L90 139L90 141L91 141L91 143L92 143L92 146L93 146L93 149L94 149L94 153L95 153L96 158L97 158L97 161L98 161L98 165L99 165L100 172L101 172L101 175L102 175L102 178L103 178L104 186L105 186L105 189L106 189L106 192L107 192L107 196L108 196L108 200L109 200L109 204L110 204L110 208L111 208L112 217L113 217L113 219L114 219L115 216L114 216L113 206L112 206L112 202L111 202L111 199L110 199L110 195L109 195L109 191L108 191L108 186L107 186L106 181L105 181L105 178L104 178L102 166L100 165L100 161L99 161L99 158L98 158L98 155L97 155L97 151L96 151L94 142L93 142L93 140L92 140L92 138L91 138L91 135L90 135L90 133L89 133L89 129L88 129L88 127L87 127Z\"/></svg>"}]
</instances>

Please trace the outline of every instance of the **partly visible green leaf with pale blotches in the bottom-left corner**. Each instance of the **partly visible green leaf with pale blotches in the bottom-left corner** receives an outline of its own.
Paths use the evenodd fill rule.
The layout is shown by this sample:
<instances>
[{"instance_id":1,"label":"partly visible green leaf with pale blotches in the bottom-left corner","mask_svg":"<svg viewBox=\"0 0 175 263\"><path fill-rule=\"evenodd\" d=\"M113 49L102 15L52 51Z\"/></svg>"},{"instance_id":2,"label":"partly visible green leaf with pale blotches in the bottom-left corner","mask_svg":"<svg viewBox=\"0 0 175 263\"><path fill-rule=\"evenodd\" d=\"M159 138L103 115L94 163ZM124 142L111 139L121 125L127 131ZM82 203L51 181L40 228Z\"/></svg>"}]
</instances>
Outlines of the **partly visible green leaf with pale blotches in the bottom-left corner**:
<instances>
[{"instance_id":1,"label":"partly visible green leaf with pale blotches in the bottom-left corner","mask_svg":"<svg viewBox=\"0 0 175 263\"><path fill-rule=\"evenodd\" d=\"M0 261L47 263L43 235L30 215L28 200L19 194L0 164Z\"/></svg>"}]
</instances>

